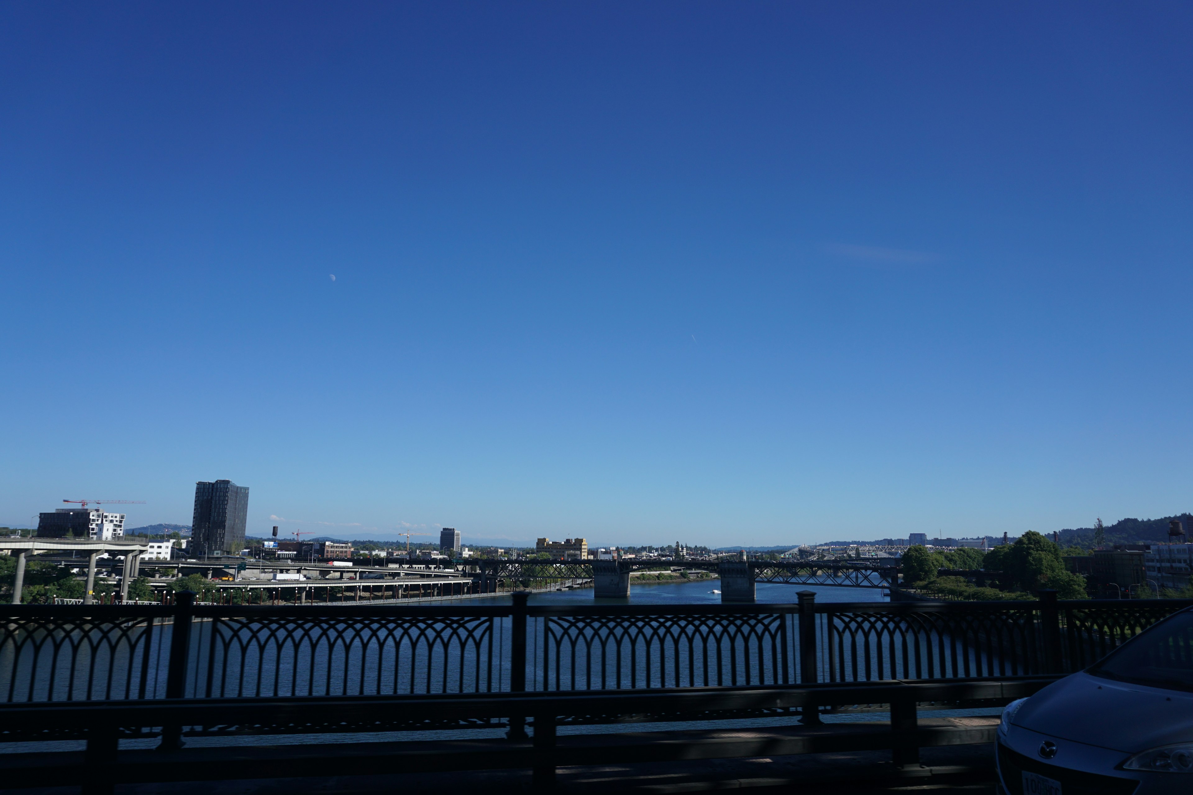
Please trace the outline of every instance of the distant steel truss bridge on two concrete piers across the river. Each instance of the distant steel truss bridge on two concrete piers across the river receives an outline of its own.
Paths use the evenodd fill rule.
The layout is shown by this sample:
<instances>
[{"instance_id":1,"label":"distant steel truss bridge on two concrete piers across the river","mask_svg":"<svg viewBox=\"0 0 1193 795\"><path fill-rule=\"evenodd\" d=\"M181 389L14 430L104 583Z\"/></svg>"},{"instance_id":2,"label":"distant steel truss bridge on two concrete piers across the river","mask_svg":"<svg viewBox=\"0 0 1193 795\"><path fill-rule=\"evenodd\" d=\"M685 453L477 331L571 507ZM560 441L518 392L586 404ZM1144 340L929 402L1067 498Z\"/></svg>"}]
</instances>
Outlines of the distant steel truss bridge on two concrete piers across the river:
<instances>
[{"instance_id":1,"label":"distant steel truss bridge on two concrete piers across the river","mask_svg":"<svg viewBox=\"0 0 1193 795\"><path fill-rule=\"evenodd\" d=\"M593 580L596 598L629 597L636 571L675 567L717 574L722 602L753 602L755 583L892 588L900 572L897 565L860 560L480 560L466 566L483 594L570 579Z\"/></svg>"}]
</instances>

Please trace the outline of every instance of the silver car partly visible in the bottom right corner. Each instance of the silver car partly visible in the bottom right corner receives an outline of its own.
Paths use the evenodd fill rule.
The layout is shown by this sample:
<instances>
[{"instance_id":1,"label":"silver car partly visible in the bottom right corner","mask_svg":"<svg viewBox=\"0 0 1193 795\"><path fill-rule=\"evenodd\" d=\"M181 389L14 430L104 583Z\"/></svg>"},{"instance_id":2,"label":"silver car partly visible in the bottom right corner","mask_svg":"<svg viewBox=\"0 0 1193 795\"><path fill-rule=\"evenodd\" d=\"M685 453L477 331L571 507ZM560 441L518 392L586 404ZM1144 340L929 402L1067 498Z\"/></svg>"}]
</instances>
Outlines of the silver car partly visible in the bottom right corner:
<instances>
[{"instance_id":1,"label":"silver car partly visible in the bottom right corner","mask_svg":"<svg viewBox=\"0 0 1193 795\"><path fill-rule=\"evenodd\" d=\"M1007 706L1002 795L1193 794L1193 609Z\"/></svg>"}]
</instances>

